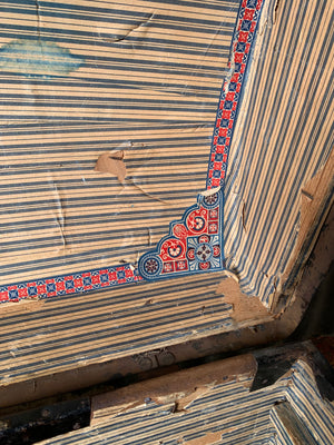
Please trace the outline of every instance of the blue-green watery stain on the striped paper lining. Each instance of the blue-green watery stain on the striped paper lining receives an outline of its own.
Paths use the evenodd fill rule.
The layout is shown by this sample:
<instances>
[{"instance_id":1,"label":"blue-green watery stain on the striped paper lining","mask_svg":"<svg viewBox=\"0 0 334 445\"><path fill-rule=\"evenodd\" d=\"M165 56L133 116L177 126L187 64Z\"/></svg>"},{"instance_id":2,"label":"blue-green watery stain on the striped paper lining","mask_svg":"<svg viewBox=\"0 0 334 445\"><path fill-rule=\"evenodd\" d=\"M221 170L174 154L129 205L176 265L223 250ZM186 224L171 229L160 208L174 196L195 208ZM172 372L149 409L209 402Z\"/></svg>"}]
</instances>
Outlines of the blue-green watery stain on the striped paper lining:
<instances>
[{"instance_id":1,"label":"blue-green watery stain on the striped paper lining","mask_svg":"<svg viewBox=\"0 0 334 445\"><path fill-rule=\"evenodd\" d=\"M68 76L84 61L67 48L41 39L17 39L0 49L0 70L27 77Z\"/></svg>"}]
</instances>

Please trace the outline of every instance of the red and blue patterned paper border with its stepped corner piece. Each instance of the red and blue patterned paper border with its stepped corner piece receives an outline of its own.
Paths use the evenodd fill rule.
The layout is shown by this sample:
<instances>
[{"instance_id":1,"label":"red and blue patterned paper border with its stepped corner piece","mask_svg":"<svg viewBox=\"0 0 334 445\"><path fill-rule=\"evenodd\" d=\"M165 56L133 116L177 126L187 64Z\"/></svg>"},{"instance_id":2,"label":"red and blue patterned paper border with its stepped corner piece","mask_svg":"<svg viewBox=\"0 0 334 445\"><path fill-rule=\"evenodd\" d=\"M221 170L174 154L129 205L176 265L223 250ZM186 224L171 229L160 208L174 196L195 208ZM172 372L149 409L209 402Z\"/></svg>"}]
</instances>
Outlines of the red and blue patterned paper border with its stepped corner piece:
<instances>
[{"instance_id":1,"label":"red and blue patterned paper border with its stepped corner piece","mask_svg":"<svg viewBox=\"0 0 334 445\"><path fill-rule=\"evenodd\" d=\"M243 0L238 12L238 20L232 43L232 57L228 63L229 75L224 81L219 97L207 170L206 188L222 188L216 194L209 195L217 197L214 204L214 207L216 206L215 209L209 209L210 199L203 198L199 195L197 205L187 209L180 221L173 221L169 225L169 235L161 238L157 248L143 255L138 264L139 269L131 264L126 264L56 278L43 278L18 285L0 286L0 303L86 293L138 283L143 279L156 280L210 270L222 270L224 268L224 182L242 88L245 82L245 71L263 1ZM218 217L216 217L217 215L215 218L213 217L215 212L213 210L216 211ZM199 230L200 234L195 230L196 224L191 226L193 222L188 220L188 217L194 212L196 214L196 211L204 211L205 214L205 217L198 214L197 222L200 224L204 221L204 226ZM195 220L196 217L195 215ZM213 230L210 227L213 228L214 225L216 225L215 233L210 231ZM179 234L176 230L179 230ZM185 231L184 235L183 231ZM166 246L167 254L165 253ZM165 254L167 255L166 258ZM200 255L206 256L206 258L200 259Z\"/></svg>"}]
</instances>

